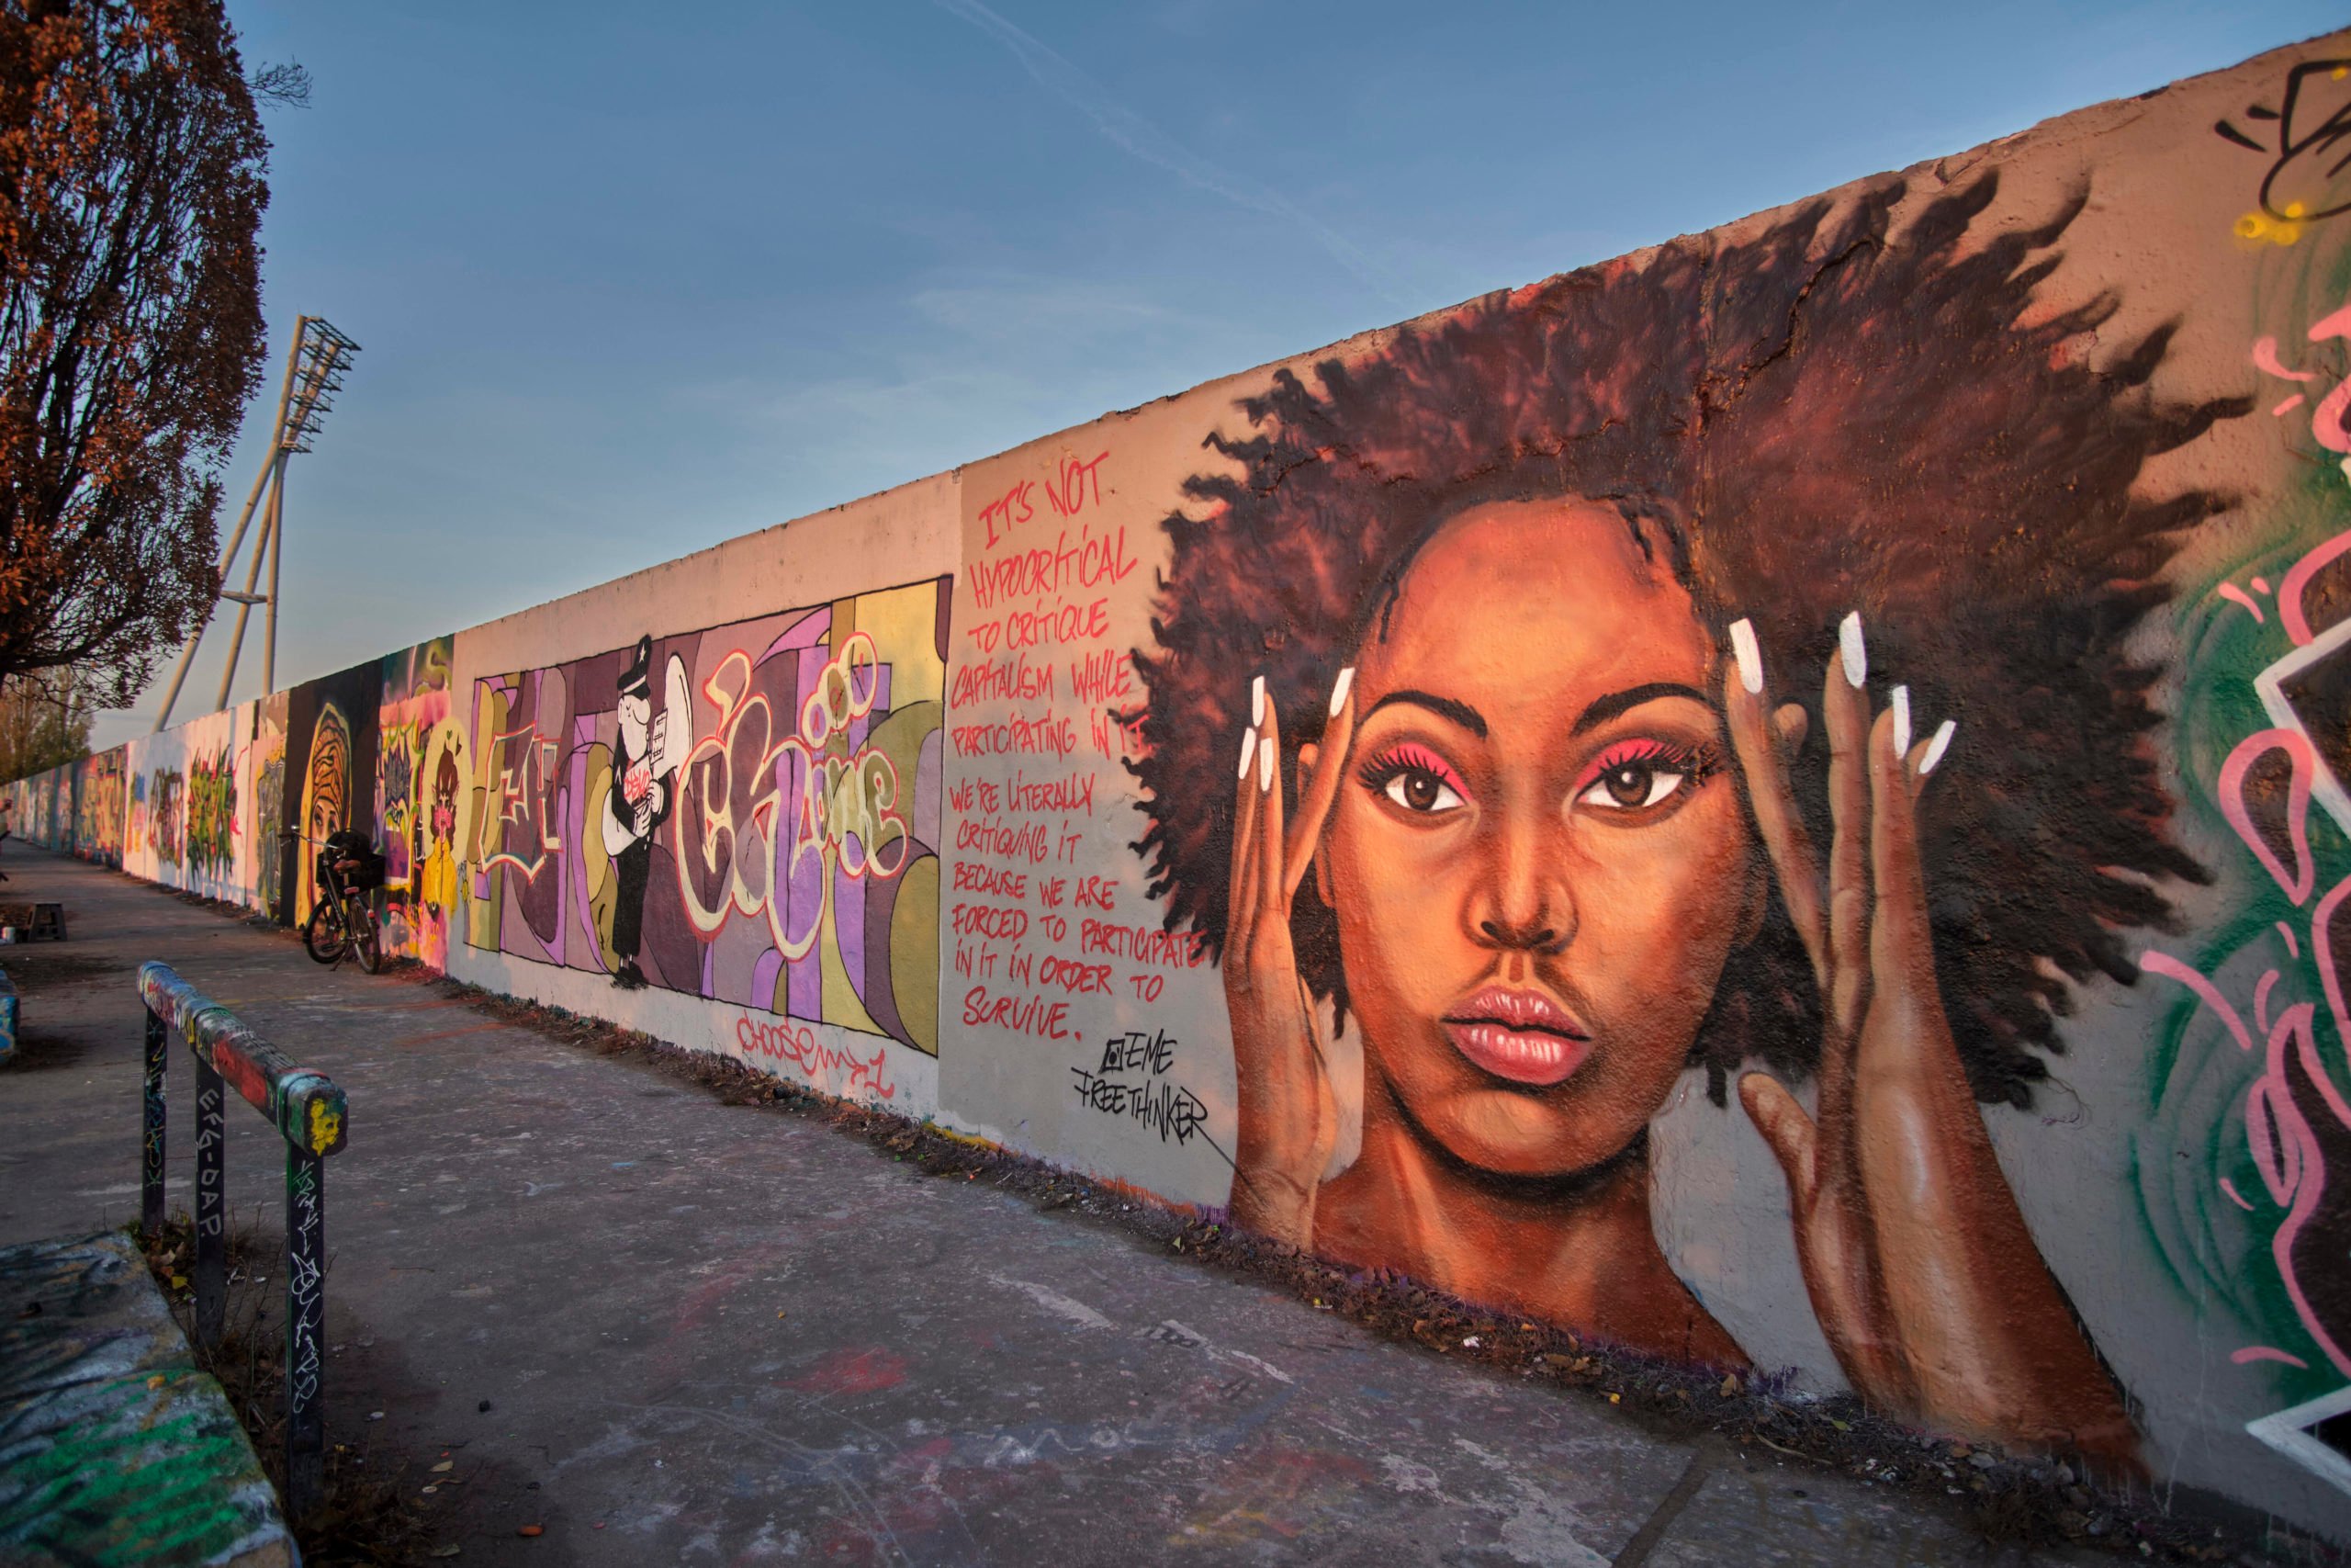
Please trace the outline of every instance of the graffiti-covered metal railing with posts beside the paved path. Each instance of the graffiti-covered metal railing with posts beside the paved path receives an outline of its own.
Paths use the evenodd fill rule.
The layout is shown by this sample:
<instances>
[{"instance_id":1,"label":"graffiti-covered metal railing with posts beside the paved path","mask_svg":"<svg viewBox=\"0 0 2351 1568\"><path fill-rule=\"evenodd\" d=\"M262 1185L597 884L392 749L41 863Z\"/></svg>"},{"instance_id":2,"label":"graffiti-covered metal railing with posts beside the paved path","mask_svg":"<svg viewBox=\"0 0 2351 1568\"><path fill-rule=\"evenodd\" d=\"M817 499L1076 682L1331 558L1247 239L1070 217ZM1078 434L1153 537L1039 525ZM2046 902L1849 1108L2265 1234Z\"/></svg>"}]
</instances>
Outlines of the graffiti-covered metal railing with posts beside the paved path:
<instances>
[{"instance_id":1,"label":"graffiti-covered metal railing with posts beside the paved path","mask_svg":"<svg viewBox=\"0 0 2351 1568\"><path fill-rule=\"evenodd\" d=\"M146 1001L146 1227L162 1225L165 1034L195 1056L195 1338L214 1345L226 1312L226 1086L287 1140L287 1514L317 1509L327 1486L327 1157L346 1135L343 1091L296 1067L235 1013L207 1001L165 964L139 966Z\"/></svg>"}]
</instances>

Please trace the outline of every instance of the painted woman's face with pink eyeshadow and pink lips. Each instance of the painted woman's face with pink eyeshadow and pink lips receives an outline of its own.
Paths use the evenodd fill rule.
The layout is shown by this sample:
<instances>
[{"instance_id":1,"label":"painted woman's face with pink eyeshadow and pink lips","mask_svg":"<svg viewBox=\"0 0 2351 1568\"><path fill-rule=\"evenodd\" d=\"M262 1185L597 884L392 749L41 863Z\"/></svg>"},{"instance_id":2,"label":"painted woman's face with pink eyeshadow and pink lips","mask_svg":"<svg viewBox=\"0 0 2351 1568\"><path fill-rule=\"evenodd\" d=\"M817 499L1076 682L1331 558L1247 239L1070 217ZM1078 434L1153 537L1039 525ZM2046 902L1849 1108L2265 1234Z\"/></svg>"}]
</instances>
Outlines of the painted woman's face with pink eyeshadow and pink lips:
<instances>
[{"instance_id":1,"label":"painted woman's face with pink eyeshadow and pink lips","mask_svg":"<svg viewBox=\"0 0 2351 1568\"><path fill-rule=\"evenodd\" d=\"M1639 1138L1766 893L1714 668L1613 508L1491 503L1427 543L1361 649L1317 858L1366 1114L1526 1178Z\"/></svg>"}]
</instances>

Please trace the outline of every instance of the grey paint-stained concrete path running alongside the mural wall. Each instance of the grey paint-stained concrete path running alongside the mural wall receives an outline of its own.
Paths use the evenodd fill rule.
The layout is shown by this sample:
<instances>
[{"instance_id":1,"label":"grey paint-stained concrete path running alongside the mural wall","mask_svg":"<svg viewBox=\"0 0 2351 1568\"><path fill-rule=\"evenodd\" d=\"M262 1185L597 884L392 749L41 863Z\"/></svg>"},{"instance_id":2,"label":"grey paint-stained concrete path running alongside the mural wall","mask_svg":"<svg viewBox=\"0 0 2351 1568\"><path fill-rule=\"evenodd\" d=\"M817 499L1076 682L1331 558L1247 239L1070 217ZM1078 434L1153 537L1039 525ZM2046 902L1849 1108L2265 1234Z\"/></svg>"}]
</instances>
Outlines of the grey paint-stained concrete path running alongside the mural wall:
<instances>
[{"instance_id":1,"label":"grey paint-stained concrete path running alongside the mural wall","mask_svg":"<svg viewBox=\"0 0 2351 1568\"><path fill-rule=\"evenodd\" d=\"M350 1095L329 1441L404 1462L458 1561L2114 1561L1991 1549L1916 1495L1378 1340L115 872L9 872L73 938L0 950L26 1041L0 1246L136 1213L136 964L235 1006ZM174 1046L176 1206L190 1100ZM230 1105L230 1199L270 1241L280 1147Z\"/></svg>"}]
</instances>

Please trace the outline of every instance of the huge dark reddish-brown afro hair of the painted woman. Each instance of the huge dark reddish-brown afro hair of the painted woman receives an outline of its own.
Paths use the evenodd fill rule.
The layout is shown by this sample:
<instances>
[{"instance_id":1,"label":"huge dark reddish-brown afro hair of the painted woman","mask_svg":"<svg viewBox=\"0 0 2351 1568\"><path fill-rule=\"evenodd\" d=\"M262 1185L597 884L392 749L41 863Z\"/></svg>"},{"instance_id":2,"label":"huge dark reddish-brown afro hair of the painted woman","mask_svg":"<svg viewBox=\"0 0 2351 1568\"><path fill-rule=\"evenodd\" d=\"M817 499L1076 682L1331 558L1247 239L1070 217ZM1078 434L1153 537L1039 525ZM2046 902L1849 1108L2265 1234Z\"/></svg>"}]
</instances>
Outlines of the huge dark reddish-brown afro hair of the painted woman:
<instances>
[{"instance_id":1,"label":"huge dark reddish-brown afro hair of the painted woman","mask_svg":"<svg viewBox=\"0 0 2351 1568\"><path fill-rule=\"evenodd\" d=\"M2205 879L2168 835L2158 672L2125 644L2165 602L2182 534L2229 498L2135 482L2250 404L2156 397L2175 322L2092 362L2114 296L2034 301L2078 197L2036 228L1972 230L1987 174L1897 233L1902 195L1886 181L1751 240L1676 240L1491 294L1314 364L1317 386L1284 369L1244 400L1248 433L1204 442L1227 465L1187 480L1190 512L1164 522L1157 651L1138 651L1136 849L1168 929L1223 947L1253 675L1279 703L1293 790L1331 682L1446 517L1610 501L1719 644L1754 621L1773 691L1817 708L1836 623L1860 609L1871 675L1909 684L1921 733L1958 719L1921 823L1937 978L1975 1093L2027 1105L2041 1053L2064 1048L2071 985L2128 985L2123 933L2170 926L2165 884ZM1822 846L1824 750L1796 759ZM1302 980L1345 1013L1338 922L1312 879L1293 933ZM1817 1053L1820 999L1775 898L1693 1063L1721 1100L1744 1060L1806 1072Z\"/></svg>"}]
</instances>

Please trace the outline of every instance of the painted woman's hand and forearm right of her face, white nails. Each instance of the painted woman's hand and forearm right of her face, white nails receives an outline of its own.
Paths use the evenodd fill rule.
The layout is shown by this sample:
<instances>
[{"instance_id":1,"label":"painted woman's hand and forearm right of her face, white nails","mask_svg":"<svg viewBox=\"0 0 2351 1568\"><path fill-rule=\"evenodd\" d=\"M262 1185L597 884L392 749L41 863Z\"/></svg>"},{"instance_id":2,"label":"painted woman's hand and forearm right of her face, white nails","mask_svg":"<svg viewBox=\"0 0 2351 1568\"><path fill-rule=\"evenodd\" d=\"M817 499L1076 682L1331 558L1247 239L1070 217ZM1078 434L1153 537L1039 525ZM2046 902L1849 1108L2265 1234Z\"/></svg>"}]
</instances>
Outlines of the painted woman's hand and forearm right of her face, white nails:
<instances>
[{"instance_id":1,"label":"painted woman's hand and forearm right of her face, white nails","mask_svg":"<svg viewBox=\"0 0 2351 1568\"><path fill-rule=\"evenodd\" d=\"M1723 679L1730 741L1822 997L1817 1114L1775 1079L1740 1100L1787 1175L1796 1253L1846 1378L1909 1420L2135 1458L2121 1396L2034 1246L1951 1039L1918 863L1918 795L1949 726L1911 745L1907 691L1871 722L1860 616L1829 661L1827 875L1751 628Z\"/></svg>"}]
</instances>

